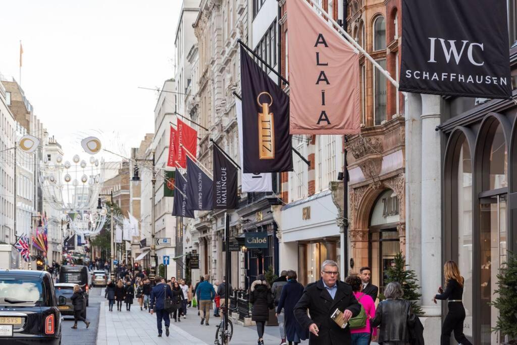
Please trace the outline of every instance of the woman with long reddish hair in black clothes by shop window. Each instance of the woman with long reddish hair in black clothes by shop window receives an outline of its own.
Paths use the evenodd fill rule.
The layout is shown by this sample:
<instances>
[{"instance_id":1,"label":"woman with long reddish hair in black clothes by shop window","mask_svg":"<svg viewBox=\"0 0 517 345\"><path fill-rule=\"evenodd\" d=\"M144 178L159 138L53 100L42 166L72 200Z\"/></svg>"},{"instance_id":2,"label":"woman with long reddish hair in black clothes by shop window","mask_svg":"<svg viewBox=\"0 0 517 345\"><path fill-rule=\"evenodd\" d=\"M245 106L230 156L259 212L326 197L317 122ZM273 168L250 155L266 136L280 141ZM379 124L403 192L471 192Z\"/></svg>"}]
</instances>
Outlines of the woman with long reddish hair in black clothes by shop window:
<instances>
[{"instance_id":1,"label":"woman with long reddish hair in black clothes by shop window","mask_svg":"<svg viewBox=\"0 0 517 345\"><path fill-rule=\"evenodd\" d=\"M458 265L449 260L444 265L445 276L445 291L442 287L438 288L438 294L433 297L433 302L436 299L449 299L447 303L447 316L442 325L442 336L440 343L442 345L450 343L450 336L454 331L454 339L462 345L472 345L463 334L463 322L465 321L465 307L463 306L463 284L465 280L460 275Z\"/></svg>"}]
</instances>

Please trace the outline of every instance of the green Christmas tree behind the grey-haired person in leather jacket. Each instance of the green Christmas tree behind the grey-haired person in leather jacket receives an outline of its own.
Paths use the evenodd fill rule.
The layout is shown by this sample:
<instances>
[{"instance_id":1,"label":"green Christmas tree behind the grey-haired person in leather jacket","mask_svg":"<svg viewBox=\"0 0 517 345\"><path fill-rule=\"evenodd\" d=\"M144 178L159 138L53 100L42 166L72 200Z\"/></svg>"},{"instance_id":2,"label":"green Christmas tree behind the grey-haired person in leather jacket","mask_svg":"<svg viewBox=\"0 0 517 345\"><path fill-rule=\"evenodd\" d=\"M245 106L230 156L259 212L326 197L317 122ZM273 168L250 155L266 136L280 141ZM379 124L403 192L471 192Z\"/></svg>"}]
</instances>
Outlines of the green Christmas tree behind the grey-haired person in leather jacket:
<instances>
[{"instance_id":1,"label":"green Christmas tree behind the grey-haired person in leather jacket","mask_svg":"<svg viewBox=\"0 0 517 345\"><path fill-rule=\"evenodd\" d=\"M404 290L403 298L411 302L413 312L417 315L423 315L424 312L418 305L422 294L419 292L420 286L418 285L417 275L413 269L406 269L406 266L408 265L406 265L402 252L397 253L386 273L387 277L384 280L384 286L387 286L392 281L399 282ZM379 295L381 301L385 298L383 294Z\"/></svg>"}]
</instances>

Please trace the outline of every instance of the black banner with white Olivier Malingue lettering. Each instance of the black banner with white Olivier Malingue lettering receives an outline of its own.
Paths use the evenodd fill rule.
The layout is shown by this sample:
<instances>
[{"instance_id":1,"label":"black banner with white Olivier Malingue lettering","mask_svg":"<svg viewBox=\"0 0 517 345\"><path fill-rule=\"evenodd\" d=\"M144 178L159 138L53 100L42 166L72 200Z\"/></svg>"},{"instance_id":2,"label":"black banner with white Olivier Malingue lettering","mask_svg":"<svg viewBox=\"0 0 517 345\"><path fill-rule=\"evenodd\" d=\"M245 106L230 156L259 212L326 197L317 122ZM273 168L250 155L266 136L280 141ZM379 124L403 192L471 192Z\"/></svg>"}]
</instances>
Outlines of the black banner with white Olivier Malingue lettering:
<instances>
[{"instance_id":1,"label":"black banner with white Olivier Malingue lettering","mask_svg":"<svg viewBox=\"0 0 517 345\"><path fill-rule=\"evenodd\" d=\"M237 168L214 145L214 208L237 208Z\"/></svg>"}]
</instances>

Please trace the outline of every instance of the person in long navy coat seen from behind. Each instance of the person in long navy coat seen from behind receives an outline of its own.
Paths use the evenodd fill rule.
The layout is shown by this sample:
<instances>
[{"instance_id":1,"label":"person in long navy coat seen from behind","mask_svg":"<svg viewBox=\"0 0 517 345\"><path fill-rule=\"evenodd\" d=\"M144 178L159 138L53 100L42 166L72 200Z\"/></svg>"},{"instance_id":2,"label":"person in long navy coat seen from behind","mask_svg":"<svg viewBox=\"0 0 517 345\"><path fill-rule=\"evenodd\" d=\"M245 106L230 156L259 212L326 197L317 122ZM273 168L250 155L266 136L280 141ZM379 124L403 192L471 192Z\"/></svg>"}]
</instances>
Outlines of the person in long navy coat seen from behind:
<instances>
[{"instance_id":1,"label":"person in long navy coat seen from behind","mask_svg":"<svg viewBox=\"0 0 517 345\"><path fill-rule=\"evenodd\" d=\"M283 273L283 271L282 271ZM294 317L294 307L303 295L303 285L296 279L298 275L295 271L289 270L285 272L286 282L282 285L282 292L278 298L277 318L282 313L282 321L284 321L284 338L282 343L287 340L289 345L293 343L299 344L301 340L309 338L309 330L303 328ZM273 283L274 284L274 283ZM274 294L273 294L274 300Z\"/></svg>"}]
</instances>

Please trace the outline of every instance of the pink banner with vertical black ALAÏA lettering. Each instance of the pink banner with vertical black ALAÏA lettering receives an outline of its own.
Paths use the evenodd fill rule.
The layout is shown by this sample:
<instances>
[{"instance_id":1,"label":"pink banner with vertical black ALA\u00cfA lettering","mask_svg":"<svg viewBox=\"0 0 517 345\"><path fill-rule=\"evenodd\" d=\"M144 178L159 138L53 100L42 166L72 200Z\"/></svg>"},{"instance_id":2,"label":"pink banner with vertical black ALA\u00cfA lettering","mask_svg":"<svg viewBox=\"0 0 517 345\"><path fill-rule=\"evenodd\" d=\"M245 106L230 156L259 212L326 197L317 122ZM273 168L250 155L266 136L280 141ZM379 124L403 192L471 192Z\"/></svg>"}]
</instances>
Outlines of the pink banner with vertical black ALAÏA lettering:
<instances>
[{"instance_id":1,"label":"pink banner with vertical black ALA\u00cfA lettering","mask_svg":"<svg viewBox=\"0 0 517 345\"><path fill-rule=\"evenodd\" d=\"M290 134L356 134L359 54L305 0L287 0Z\"/></svg>"}]
</instances>

